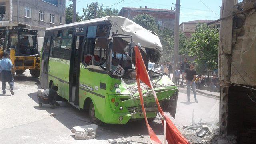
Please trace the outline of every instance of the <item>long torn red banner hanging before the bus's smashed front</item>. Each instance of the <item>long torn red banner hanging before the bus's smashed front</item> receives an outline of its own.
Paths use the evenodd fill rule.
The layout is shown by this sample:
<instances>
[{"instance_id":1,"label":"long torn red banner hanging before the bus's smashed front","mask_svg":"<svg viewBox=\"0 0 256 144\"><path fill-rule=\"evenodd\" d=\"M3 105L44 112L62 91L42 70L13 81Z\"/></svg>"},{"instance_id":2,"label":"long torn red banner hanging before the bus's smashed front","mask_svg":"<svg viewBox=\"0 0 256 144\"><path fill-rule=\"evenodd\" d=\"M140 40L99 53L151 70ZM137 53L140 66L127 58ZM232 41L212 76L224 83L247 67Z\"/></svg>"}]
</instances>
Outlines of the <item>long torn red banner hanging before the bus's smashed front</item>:
<instances>
[{"instance_id":1,"label":"long torn red banner hanging before the bus's smashed front","mask_svg":"<svg viewBox=\"0 0 256 144\"><path fill-rule=\"evenodd\" d=\"M139 80L142 80L142 82L144 82L146 85L148 85L152 89L152 93L156 100L158 110L160 114L164 117L164 120L166 120L166 140L168 144L190 144L188 140L180 133L180 131L172 123L170 118L164 115L164 112L162 111L162 108L160 107L160 104L158 102L156 92L154 91L154 88L151 84L150 77L148 75L148 71L146 70L146 66L142 59L139 47L135 46L134 48L135 48L135 58L136 58L136 79L137 79L139 93L141 93L140 94L141 104L143 105L143 98L142 98L142 92L139 85L140 84ZM144 108L144 105L142 107ZM146 124L148 124L146 119L146 114L144 114L144 116L145 116ZM163 120L162 120L162 124L164 125ZM149 129L148 129L148 132L150 133ZM150 139L151 139L151 136L150 136Z\"/></svg>"}]
</instances>

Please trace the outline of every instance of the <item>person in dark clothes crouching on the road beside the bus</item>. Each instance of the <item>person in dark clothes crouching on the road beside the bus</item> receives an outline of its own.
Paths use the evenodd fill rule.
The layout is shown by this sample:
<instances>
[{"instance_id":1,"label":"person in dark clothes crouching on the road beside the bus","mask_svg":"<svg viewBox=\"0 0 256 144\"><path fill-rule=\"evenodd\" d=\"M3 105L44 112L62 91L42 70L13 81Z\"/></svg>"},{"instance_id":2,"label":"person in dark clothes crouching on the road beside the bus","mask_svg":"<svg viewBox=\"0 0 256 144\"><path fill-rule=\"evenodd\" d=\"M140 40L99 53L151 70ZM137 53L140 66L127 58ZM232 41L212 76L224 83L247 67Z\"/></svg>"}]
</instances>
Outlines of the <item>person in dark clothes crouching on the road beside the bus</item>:
<instances>
[{"instance_id":1,"label":"person in dark clothes crouching on the road beside the bus","mask_svg":"<svg viewBox=\"0 0 256 144\"><path fill-rule=\"evenodd\" d=\"M52 86L50 89L44 90L44 92L41 92L41 90L37 91L37 99L39 102L39 107L41 108L43 104L50 104L51 108L54 108L55 106L60 106L56 100L58 99L58 86ZM55 105L55 106L54 106Z\"/></svg>"}]
</instances>

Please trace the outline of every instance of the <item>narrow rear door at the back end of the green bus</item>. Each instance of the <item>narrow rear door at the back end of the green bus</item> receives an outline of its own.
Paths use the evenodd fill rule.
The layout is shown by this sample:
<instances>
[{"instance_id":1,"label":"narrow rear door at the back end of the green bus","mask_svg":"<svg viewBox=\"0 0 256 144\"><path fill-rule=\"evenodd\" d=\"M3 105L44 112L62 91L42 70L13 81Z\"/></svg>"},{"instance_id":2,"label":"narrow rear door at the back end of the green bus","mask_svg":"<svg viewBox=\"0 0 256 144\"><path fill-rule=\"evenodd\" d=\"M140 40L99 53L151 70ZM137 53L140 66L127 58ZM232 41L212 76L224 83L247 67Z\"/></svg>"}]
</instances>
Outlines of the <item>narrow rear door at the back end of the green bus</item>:
<instances>
[{"instance_id":1,"label":"narrow rear door at the back end of the green bus","mask_svg":"<svg viewBox=\"0 0 256 144\"><path fill-rule=\"evenodd\" d=\"M48 62L49 62L49 50L52 36L45 36L42 47L42 58L40 64L40 83L41 87L48 88Z\"/></svg>"}]
</instances>

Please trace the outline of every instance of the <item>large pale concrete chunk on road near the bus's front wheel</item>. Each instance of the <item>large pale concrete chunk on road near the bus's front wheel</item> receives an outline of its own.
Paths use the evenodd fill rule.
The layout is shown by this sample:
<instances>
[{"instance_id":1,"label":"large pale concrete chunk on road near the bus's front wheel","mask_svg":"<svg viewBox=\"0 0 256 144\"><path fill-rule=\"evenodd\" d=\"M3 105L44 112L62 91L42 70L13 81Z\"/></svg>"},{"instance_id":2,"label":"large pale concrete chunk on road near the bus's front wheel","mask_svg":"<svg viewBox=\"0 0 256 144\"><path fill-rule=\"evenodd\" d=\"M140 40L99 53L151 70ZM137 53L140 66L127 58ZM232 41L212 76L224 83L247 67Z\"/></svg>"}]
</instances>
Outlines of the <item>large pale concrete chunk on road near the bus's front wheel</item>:
<instances>
[{"instance_id":1,"label":"large pale concrete chunk on road near the bus's front wheel","mask_svg":"<svg viewBox=\"0 0 256 144\"><path fill-rule=\"evenodd\" d=\"M77 139L94 139L96 136L98 126L96 124L84 125L84 126L74 126L71 129L72 133L75 133L75 138Z\"/></svg>"}]
</instances>

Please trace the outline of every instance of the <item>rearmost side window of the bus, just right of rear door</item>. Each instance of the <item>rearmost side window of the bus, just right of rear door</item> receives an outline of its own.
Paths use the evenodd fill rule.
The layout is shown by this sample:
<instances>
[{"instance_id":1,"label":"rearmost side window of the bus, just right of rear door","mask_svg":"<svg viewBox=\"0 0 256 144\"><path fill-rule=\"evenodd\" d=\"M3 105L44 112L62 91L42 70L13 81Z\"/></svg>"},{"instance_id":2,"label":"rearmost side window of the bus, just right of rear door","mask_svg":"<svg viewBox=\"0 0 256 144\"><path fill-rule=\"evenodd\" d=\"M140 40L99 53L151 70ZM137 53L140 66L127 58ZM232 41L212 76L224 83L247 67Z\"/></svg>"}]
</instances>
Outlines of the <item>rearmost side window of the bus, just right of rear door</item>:
<instances>
[{"instance_id":1,"label":"rearmost side window of the bus, just right of rear door","mask_svg":"<svg viewBox=\"0 0 256 144\"><path fill-rule=\"evenodd\" d=\"M61 58L59 54L61 36L62 30L54 31L50 52L50 56L54 58Z\"/></svg>"}]
</instances>

